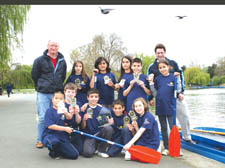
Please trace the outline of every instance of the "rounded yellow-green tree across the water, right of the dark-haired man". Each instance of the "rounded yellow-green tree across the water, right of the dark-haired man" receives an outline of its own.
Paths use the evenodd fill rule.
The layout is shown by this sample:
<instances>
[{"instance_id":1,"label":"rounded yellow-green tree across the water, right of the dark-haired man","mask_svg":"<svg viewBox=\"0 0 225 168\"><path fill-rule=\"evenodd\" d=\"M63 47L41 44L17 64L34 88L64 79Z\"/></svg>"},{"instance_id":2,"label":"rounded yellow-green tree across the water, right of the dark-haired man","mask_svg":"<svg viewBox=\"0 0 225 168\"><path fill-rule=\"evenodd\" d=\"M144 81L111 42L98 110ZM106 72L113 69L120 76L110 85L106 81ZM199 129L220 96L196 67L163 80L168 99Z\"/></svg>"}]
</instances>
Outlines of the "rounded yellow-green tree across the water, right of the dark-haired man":
<instances>
[{"instance_id":1,"label":"rounded yellow-green tree across the water, right of the dark-haired man","mask_svg":"<svg viewBox=\"0 0 225 168\"><path fill-rule=\"evenodd\" d=\"M207 86L210 82L210 75L199 67L187 68L184 77L188 85Z\"/></svg>"}]
</instances>

